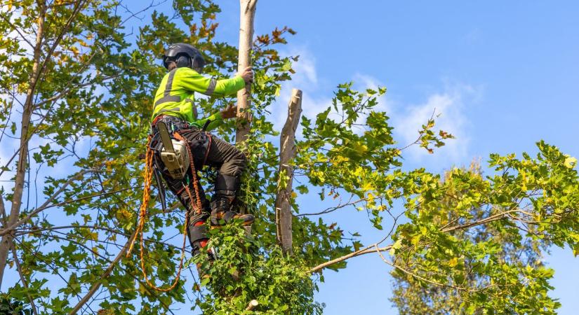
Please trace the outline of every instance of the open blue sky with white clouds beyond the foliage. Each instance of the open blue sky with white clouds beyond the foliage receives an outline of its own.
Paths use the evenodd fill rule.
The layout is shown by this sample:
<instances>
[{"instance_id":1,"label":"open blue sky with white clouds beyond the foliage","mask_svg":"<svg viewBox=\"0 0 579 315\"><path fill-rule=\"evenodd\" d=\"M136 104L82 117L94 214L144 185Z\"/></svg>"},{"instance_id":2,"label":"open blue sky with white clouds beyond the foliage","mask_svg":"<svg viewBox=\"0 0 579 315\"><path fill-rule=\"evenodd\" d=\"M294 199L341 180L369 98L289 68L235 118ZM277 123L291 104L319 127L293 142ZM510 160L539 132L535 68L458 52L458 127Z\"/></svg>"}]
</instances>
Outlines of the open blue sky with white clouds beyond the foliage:
<instances>
[{"instance_id":1,"label":"open blue sky with white clouds beyond the foliage","mask_svg":"<svg viewBox=\"0 0 579 315\"><path fill-rule=\"evenodd\" d=\"M237 44L238 1L218 3L218 40ZM281 47L300 61L272 109L278 127L292 87L304 91L304 115L312 117L326 109L339 83L386 86L379 106L400 144L415 139L434 109L441 113L437 124L457 139L434 155L408 151L405 161L408 168L444 172L473 159L484 163L489 153L534 152L540 139L579 157L577 17L576 1L260 0L255 33L285 25L298 32ZM308 212L323 207L303 201L314 205ZM325 218L361 232L364 244L384 234L351 209ZM547 262L556 271L559 313L575 314L579 259L553 248ZM325 314L396 313L387 300L389 271L377 255L354 258L347 269L324 274L317 300L326 303Z\"/></svg>"}]
</instances>

